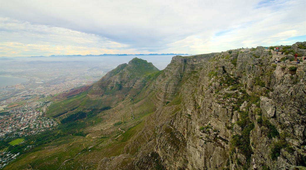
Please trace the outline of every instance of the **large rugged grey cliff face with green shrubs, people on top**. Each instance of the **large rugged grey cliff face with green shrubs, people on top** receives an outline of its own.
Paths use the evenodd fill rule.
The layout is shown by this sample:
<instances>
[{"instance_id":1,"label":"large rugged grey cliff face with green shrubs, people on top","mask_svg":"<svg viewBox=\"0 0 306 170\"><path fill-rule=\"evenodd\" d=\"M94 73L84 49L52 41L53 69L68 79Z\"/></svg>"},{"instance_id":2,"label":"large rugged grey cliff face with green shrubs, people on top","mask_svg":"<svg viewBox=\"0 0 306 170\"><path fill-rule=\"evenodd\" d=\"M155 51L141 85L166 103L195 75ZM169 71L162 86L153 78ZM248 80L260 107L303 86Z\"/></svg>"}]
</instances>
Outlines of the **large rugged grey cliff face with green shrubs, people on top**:
<instances>
[{"instance_id":1,"label":"large rugged grey cliff face with green shrubs, people on top","mask_svg":"<svg viewBox=\"0 0 306 170\"><path fill-rule=\"evenodd\" d=\"M134 168L305 169L306 65L272 52L173 57L146 86L158 109L125 146Z\"/></svg>"}]
</instances>

